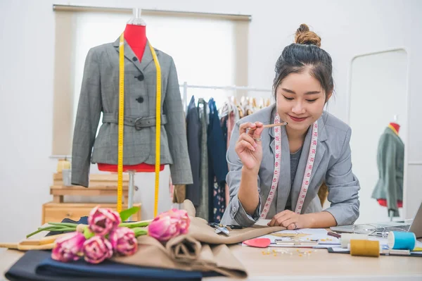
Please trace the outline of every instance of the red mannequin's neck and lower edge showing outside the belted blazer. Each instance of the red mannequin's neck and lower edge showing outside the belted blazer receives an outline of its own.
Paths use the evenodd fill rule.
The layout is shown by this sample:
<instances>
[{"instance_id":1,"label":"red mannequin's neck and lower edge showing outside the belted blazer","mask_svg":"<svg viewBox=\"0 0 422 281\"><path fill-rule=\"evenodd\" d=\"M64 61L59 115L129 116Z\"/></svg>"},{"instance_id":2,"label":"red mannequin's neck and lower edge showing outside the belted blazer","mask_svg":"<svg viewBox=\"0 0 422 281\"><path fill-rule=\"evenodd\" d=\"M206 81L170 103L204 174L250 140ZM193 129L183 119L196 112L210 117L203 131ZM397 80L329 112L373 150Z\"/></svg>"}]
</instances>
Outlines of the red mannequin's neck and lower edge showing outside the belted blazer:
<instances>
[{"instance_id":1,"label":"red mannequin's neck and lower edge showing outside the belted blazer","mask_svg":"<svg viewBox=\"0 0 422 281\"><path fill-rule=\"evenodd\" d=\"M147 39L146 39L146 24L143 22L140 16L141 10L135 9L134 17L129 20L126 27L124 28L123 36L127 44L129 44L132 51L134 51L139 62L142 61L143 52L145 51ZM117 165L98 163L98 170L107 172L116 172ZM123 171L135 171L135 172L155 172L155 166L147 163L139 163L137 165L124 165ZM164 170L164 165L160 165L160 171Z\"/></svg>"}]
</instances>

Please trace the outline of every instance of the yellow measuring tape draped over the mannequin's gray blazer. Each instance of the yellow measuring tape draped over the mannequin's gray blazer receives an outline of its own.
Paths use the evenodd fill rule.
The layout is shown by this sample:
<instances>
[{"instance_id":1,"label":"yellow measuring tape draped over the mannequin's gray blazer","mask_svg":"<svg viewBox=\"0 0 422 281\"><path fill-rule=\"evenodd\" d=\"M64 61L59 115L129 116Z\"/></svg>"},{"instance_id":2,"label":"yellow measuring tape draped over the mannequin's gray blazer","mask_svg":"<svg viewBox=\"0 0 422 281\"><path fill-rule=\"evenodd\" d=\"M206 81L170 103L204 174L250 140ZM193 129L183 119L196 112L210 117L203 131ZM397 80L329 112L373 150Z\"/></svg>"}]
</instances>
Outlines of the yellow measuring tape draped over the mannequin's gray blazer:
<instances>
[{"instance_id":1,"label":"yellow measuring tape draped over the mannequin's gray blazer","mask_svg":"<svg viewBox=\"0 0 422 281\"><path fill-rule=\"evenodd\" d=\"M157 101L155 106L155 203L154 217L158 210L158 187L160 184L160 136L161 136L161 67L153 46L148 42L153 55L155 69L157 71ZM117 160L117 212L122 211L123 190L123 120L124 120L124 37L120 35L119 44L119 140Z\"/></svg>"}]
</instances>

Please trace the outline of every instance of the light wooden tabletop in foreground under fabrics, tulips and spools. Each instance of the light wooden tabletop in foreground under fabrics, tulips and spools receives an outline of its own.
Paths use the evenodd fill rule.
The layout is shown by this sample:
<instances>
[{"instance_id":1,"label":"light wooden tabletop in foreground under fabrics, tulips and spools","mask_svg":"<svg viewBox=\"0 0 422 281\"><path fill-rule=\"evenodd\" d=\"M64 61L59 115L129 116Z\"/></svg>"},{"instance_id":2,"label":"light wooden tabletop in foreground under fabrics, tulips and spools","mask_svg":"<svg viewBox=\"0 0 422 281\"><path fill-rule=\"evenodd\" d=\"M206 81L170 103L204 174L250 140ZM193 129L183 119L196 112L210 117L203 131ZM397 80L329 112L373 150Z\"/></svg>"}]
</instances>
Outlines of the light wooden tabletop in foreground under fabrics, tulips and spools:
<instances>
[{"instance_id":1,"label":"light wooden tabletop in foreground under fabrics, tulips and spools","mask_svg":"<svg viewBox=\"0 0 422 281\"><path fill-rule=\"evenodd\" d=\"M357 257L350 254L329 254L326 249L307 249L310 256L293 254L264 255L262 249L234 245L231 250L248 270L248 280L422 280L422 258L410 256ZM303 249L305 250L305 249ZM23 252L0 252L0 280ZM3 278L3 279L1 279ZM226 277L204 278L206 281L229 280Z\"/></svg>"}]
</instances>

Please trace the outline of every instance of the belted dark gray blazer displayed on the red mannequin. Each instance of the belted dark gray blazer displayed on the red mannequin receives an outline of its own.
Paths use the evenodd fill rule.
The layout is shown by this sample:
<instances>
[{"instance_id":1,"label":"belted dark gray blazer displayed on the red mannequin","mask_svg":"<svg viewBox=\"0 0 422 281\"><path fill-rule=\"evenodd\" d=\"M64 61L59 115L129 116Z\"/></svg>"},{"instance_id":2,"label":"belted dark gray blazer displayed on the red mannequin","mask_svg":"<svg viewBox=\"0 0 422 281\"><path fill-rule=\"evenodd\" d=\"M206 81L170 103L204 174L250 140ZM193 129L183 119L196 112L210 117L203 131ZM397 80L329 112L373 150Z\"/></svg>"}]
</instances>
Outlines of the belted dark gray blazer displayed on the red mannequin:
<instances>
[{"instance_id":1,"label":"belted dark gray blazer displayed on the red mannequin","mask_svg":"<svg viewBox=\"0 0 422 281\"><path fill-rule=\"evenodd\" d=\"M192 183L186 123L173 58L155 49L161 66L160 163L171 164L174 185ZM155 164L156 70L146 45L141 62L124 42L123 164ZM89 50L72 147L72 184L88 186L92 163L117 164L119 38ZM103 124L96 137L100 114ZM91 150L92 151L91 158Z\"/></svg>"}]
</instances>

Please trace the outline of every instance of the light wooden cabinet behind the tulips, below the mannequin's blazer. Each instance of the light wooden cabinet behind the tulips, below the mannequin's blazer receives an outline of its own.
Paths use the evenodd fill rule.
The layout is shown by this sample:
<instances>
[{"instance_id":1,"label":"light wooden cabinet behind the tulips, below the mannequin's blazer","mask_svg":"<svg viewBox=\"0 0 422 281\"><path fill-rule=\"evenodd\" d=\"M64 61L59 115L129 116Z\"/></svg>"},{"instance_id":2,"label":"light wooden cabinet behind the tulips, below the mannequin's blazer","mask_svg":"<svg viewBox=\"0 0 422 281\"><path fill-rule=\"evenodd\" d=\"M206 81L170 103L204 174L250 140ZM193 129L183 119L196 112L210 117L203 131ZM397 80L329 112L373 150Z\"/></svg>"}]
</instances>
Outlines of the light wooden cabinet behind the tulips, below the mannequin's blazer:
<instances>
[{"instance_id":1,"label":"light wooden cabinet behind the tulips, below the mannequin's blazer","mask_svg":"<svg viewBox=\"0 0 422 281\"><path fill-rule=\"evenodd\" d=\"M122 190L122 210L127 209L127 198L129 176L123 175ZM50 187L50 194L53 195L53 201L43 204L41 223L58 223L64 218L79 220L83 216L89 216L89 212L95 206L103 208L117 209L117 204L113 203L81 203L66 202L65 196L116 196L117 201L117 174L93 174L89 175L89 187L65 186L63 185L63 176L61 173L53 174L53 186ZM134 206L141 207L141 204ZM141 210L134 214L131 220L141 220Z\"/></svg>"}]
</instances>

